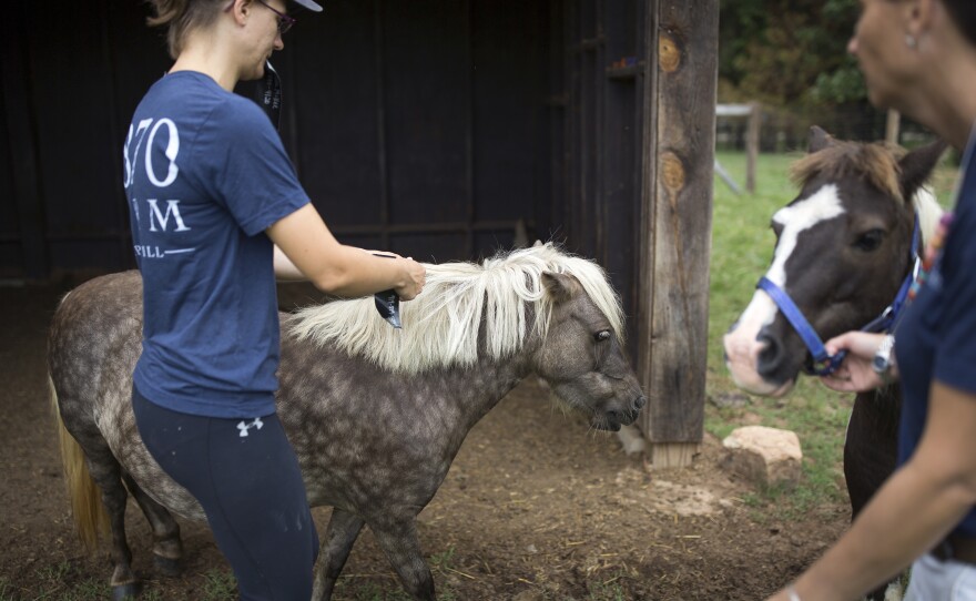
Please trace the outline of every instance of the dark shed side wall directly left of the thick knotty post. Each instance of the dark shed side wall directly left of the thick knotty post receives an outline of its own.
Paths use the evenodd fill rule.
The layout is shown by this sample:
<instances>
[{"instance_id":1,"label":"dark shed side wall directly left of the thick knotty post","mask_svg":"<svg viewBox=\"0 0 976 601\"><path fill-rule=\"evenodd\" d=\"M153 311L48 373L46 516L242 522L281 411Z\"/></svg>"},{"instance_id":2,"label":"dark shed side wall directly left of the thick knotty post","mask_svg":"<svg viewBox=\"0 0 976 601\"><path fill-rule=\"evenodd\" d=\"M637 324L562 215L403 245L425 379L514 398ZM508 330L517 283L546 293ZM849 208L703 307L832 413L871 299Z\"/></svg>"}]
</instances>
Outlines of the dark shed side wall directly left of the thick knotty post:
<instances>
[{"instance_id":1,"label":"dark shed side wall directly left of the thick knotty post","mask_svg":"<svg viewBox=\"0 0 976 601\"><path fill-rule=\"evenodd\" d=\"M569 246L598 257L636 324L641 241L642 123L645 111L641 27L647 3L569 0L562 31L567 73L567 202L557 218ZM632 328L632 332L636 329ZM630 336L631 356L640 353Z\"/></svg>"}]
</instances>

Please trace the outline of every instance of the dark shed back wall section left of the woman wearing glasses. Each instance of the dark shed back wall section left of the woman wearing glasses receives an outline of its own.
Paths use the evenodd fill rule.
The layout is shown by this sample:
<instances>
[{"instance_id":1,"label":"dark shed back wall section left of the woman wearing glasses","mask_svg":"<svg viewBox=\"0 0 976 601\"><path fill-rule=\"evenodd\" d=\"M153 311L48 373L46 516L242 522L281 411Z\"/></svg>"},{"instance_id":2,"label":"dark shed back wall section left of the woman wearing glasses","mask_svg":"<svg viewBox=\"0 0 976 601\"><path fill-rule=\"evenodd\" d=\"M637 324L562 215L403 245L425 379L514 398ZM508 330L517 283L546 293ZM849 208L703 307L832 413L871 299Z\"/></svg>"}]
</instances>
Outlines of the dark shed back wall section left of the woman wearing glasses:
<instances>
[{"instance_id":1,"label":"dark shed back wall section left of the woman wearing glasses","mask_svg":"<svg viewBox=\"0 0 976 601\"><path fill-rule=\"evenodd\" d=\"M0 203L7 276L132 264L122 137L164 54L136 7L55 4L11 4L0 26L10 153L2 175L13 191Z\"/></svg>"}]
</instances>

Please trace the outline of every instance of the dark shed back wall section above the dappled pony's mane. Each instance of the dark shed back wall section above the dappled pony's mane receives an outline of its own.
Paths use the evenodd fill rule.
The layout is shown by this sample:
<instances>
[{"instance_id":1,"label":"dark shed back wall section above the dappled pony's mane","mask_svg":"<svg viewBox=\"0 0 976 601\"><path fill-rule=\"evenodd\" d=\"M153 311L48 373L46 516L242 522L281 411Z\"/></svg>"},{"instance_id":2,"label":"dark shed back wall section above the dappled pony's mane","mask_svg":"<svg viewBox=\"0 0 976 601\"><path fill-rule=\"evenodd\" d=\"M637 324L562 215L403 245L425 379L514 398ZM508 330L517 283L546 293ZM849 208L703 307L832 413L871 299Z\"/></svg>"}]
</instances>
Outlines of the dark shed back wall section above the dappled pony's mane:
<instances>
[{"instance_id":1,"label":"dark shed back wall section above the dappled pony's mane","mask_svg":"<svg viewBox=\"0 0 976 601\"><path fill-rule=\"evenodd\" d=\"M443 261L510 247L519 220L545 230L547 10L331 3L321 34L294 38L289 133L337 234Z\"/></svg>"}]
</instances>

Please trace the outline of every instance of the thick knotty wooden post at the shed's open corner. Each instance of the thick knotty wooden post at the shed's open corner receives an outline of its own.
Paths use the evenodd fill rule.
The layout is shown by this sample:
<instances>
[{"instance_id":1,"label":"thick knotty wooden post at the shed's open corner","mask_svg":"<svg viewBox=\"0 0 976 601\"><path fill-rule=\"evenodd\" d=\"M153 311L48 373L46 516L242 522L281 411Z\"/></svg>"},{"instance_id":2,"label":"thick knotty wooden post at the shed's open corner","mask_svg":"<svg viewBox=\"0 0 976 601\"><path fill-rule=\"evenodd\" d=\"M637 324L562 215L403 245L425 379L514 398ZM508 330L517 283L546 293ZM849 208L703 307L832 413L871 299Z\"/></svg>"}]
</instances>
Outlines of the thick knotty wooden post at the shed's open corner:
<instances>
[{"instance_id":1,"label":"thick knotty wooden post at the shed's open corner","mask_svg":"<svg viewBox=\"0 0 976 601\"><path fill-rule=\"evenodd\" d=\"M679 467L704 425L719 2L653 1L645 31L640 425L651 464Z\"/></svg>"}]
</instances>

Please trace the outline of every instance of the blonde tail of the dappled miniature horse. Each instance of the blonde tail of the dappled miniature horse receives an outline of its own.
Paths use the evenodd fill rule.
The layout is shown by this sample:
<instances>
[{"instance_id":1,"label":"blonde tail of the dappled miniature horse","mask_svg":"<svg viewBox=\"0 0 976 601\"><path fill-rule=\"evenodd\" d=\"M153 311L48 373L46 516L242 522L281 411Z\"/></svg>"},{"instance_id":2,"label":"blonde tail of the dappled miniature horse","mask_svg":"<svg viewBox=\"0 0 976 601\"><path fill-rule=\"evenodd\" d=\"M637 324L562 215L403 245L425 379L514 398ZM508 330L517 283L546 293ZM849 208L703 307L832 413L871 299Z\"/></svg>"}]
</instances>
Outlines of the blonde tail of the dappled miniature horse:
<instances>
[{"instance_id":1,"label":"blonde tail of the dappled miniature horse","mask_svg":"<svg viewBox=\"0 0 976 601\"><path fill-rule=\"evenodd\" d=\"M78 537L89 551L99 546L103 534L108 534L109 513L102 503L101 492L95 486L94 479L88 471L84 461L84 451L81 445L64 427L61 411L58 407L58 391L54 383L48 377L48 387L51 391L51 406L54 409L54 419L58 421L58 439L61 447L61 466L64 469L64 482L68 485L68 498L71 501L71 513L74 517L74 526Z\"/></svg>"}]
</instances>

